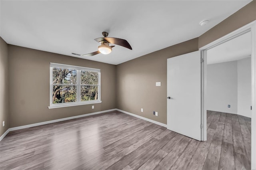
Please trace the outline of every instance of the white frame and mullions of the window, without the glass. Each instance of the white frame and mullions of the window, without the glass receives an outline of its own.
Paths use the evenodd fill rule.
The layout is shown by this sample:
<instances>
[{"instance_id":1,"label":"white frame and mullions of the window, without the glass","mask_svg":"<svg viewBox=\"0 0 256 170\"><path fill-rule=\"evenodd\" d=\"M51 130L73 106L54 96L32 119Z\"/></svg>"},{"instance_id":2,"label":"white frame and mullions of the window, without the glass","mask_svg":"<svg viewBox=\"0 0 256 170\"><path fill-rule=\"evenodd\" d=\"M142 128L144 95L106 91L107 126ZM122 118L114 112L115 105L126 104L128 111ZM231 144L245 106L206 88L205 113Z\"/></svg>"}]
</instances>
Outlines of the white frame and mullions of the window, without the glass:
<instances>
[{"instance_id":1,"label":"white frame and mullions of the window, without the glass","mask_svg":"<svg viewBox=\"0 0 256 170\"><path fill-rule=\"evenodd\" d=\"M70 103L52 103L52 69L53 68L62 68L62 69L74 69L76 70L76 102ZM98 73L98 100L92 101L81 101L81 71L92 71ZM68 85L68 84L67 84ZM89 105L94 103L101 103L100 100L100 69L88 68L88 67L79 67L74 65L66 65L66 64L58 64L58 63L50 63L50 106L49 109L60 108L60 107L70 107L70 106L78 106L78 105Z\"/></svg>"}]
</instances>

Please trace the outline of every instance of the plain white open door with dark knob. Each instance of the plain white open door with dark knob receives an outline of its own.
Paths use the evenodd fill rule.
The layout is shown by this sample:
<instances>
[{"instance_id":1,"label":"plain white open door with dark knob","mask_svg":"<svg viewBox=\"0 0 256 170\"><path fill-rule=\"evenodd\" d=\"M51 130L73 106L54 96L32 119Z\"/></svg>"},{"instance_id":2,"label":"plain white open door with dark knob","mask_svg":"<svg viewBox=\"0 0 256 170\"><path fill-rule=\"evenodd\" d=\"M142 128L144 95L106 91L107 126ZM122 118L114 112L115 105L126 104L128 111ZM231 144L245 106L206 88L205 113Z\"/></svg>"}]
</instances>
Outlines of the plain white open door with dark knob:
<instances>
[{"instance_id":1,"label":"plain white open door with dark knob","mask_svg":"<svg viewBox=\"0 0 256 170\"><path fill-rule=\"evenodd\" d=\"M200 51L167 59L167 129L201 140Z\"/></svg>"}]
</instances>

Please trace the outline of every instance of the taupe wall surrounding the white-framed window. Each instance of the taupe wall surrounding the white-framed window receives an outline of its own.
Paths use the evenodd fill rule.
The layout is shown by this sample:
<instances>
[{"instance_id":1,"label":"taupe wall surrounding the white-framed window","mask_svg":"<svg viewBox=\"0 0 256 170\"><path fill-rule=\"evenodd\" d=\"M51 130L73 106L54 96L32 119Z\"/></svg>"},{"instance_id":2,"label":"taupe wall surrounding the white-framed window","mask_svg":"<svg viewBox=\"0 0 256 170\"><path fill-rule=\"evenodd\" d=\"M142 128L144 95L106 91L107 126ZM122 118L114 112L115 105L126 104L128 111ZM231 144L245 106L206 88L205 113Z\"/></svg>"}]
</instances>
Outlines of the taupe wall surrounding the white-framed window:
<instances>
[{"instance_id":1,"label":"taupe wall surrounding the white-framed window","mask_svg":"<svg viewBox=\"0 0 256 170\"><path fill-rule=\"evenodd\" d=\"M10 127L116 108L116 65L8 45ZM50 62L101 69L102 103L48 109Z\"/></svg>"}]
</instances>

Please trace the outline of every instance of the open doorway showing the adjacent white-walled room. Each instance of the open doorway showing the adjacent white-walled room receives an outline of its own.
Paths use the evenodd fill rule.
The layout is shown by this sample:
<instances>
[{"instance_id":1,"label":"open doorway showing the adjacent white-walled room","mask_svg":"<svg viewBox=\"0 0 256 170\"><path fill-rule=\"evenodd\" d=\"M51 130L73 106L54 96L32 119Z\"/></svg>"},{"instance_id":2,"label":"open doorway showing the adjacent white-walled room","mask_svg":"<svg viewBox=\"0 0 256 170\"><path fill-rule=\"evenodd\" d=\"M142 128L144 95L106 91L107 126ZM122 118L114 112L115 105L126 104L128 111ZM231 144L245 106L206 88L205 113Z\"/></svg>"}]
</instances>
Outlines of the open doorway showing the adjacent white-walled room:
<instances>
[{"instance_id":1,"label":"open doorway showing the adjacent white-walled room","mask_svg":"<svg viewBox=\"0 0 256 170\"><path fill-rule=\"evenodd\" d=\"M250 32L207 51L207 140L218 142L216 157L228 162L230 169L250 169L250 55Z\"/></svg>"}]
</instances>

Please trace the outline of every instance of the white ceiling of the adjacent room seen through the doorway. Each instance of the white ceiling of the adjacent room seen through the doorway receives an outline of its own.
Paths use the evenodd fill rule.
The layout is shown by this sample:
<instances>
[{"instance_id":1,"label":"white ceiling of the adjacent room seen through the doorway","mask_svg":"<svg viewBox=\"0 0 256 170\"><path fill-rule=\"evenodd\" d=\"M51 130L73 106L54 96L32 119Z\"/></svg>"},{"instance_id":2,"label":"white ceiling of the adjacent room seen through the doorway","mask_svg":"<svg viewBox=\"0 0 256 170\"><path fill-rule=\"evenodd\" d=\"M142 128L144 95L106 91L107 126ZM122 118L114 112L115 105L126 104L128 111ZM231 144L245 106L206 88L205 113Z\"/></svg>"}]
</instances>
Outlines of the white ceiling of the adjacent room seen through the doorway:
<instances>
[{"instance_id":1,"label":"white ceiling of the adjacent room seen through the doorway","mask_svg":"<svg viewBox=\"0 0 256 170\"><path fill-rule=\"evenodd\" d=\"M207 51L207 64L236 61L250 57L252 51L251 32L222 43Z\"/></svg>"}]
</instances>

